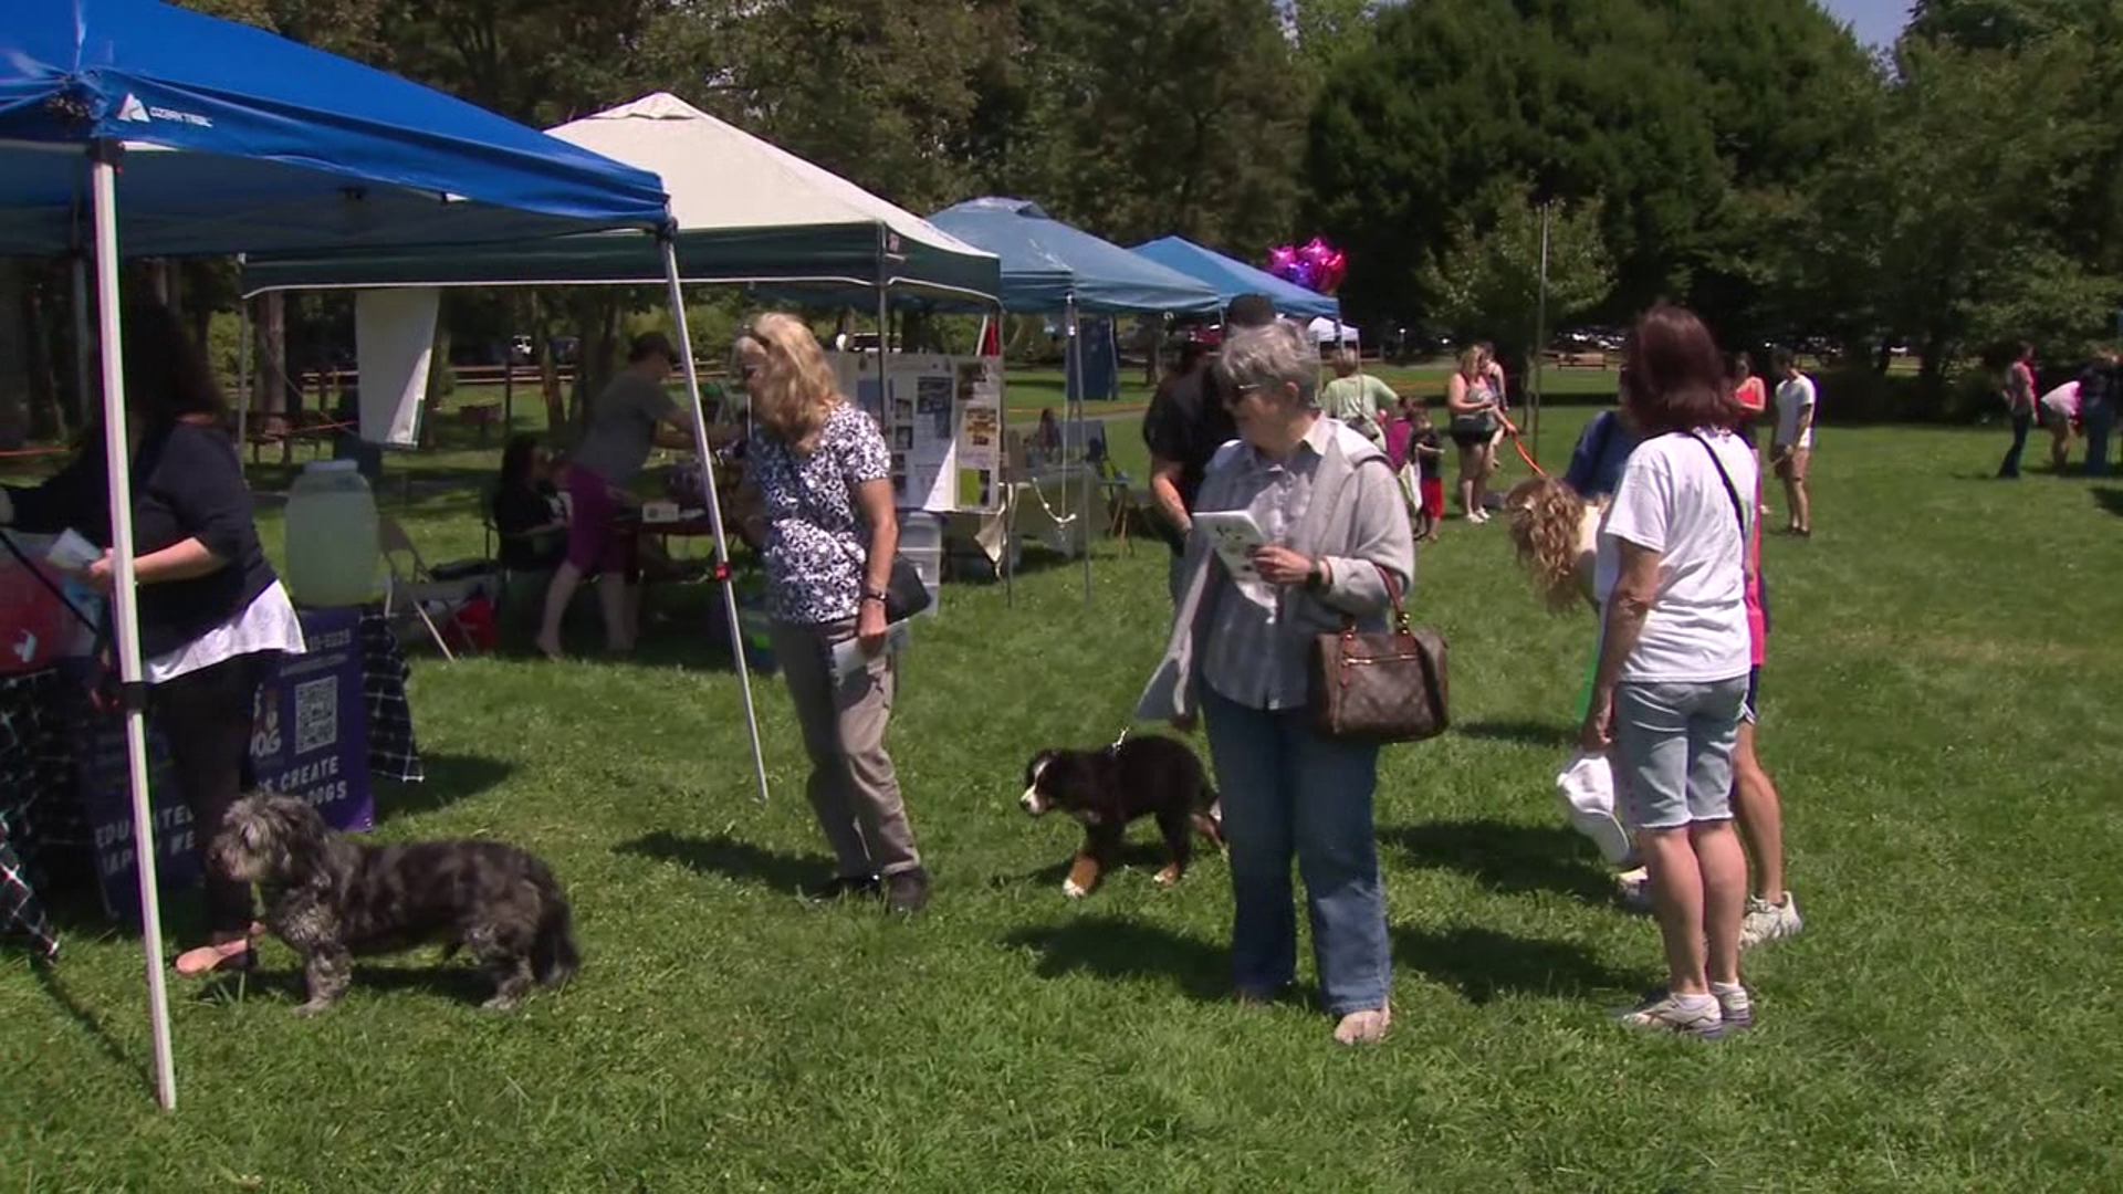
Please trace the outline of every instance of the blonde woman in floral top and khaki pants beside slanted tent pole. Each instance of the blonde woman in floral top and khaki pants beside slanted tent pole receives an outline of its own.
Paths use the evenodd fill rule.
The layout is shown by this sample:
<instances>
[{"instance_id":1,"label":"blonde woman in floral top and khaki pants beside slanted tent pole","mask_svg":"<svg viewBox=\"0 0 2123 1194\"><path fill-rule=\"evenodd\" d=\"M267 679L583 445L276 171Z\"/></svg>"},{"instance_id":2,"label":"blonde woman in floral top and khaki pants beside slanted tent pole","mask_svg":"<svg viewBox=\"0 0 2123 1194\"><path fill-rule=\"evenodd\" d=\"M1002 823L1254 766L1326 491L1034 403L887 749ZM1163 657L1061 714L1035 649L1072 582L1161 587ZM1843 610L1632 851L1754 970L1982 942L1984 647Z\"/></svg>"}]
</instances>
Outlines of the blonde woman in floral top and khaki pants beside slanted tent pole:
<instances>
[{"instance_id":1,"label":"blonde woman in floral top and khaki pants beside slanted tent pole","mask_svg":"<svg viewBox=\"0 0 2123 1194\"><path fill-rule=\"evenodd\" d=\"M737 361L754 419L743 529L764 544L775 656L811 754L805 790L839 867L813 894L883 888L894 911L919 911L930 884L885 754L896 671L879 650L900 542L892 450L877 421L841 395L796 317L756 319L737 338ZM870 661L836 676L832 648L849 637Z\"/></svg>"}]
</instances>

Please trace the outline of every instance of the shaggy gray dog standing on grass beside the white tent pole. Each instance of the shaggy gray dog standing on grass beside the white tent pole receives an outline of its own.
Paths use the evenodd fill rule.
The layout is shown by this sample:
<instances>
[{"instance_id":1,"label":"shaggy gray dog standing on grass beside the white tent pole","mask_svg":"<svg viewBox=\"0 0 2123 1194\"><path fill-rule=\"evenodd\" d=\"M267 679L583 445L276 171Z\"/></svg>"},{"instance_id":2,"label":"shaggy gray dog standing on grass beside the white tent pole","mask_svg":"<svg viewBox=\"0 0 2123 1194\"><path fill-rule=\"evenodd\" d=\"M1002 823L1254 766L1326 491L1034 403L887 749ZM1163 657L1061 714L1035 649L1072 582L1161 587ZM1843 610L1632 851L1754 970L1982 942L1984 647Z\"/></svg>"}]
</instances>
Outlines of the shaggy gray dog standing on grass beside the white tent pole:
<instances>
[{"instance_id":1,"label":"shaggy gray dog standing on grass beside the white tent pole","mask_svg":"<svg viewBox=\"0 0 2123 1194\"><path fill-rule=\"evenodd\" d=\"M575 973L567 899L546 863L501 841L363 843L333 833L293 797L244 797L208 850L210 865L259 886L265 926L301 954L310 1001L346 994L355 954L427 941L469 950L495 979L486 1007L507 1011L531 990Z\"/></svg>"}]
</instances>

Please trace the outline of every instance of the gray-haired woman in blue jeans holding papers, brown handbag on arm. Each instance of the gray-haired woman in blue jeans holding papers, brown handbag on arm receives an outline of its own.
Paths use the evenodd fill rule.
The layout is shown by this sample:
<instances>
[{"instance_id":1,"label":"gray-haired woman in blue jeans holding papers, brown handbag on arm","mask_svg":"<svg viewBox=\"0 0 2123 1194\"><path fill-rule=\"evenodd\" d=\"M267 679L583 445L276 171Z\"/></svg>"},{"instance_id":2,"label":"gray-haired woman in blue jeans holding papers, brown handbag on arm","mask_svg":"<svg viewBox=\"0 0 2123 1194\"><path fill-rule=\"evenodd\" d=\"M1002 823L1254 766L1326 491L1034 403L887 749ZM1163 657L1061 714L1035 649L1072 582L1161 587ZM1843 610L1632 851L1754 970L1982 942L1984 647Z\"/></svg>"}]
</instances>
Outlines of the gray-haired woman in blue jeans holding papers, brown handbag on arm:
<instances>
[{"instance_id":1,"label":"gray-haired woman in blue jeans holding papers, brown handbag on arm","mask_svg":"<svg viewBox=\"0 0 2123 1194\"><path fill-rule=\"evenodd\" d=\"M1185 597L1136 710L1208 720L1231 856L1231 969L1244 1001L1295 979L1291 856L1306 882L1312 954L1335 1039L1378 1041L1393 962L1371 792L1378 748L1312 729L1308 652L1318 633L1384 627L1386 584L1414 582L1408 506L1386 455L1314 404L1316 357L1293 323L1231 334L1216 363L1240 438L1208 465L1195 512L1244 510L1265 546L1240 584L1208 538L1187 544Z\"/></svg>"}]
</instances>

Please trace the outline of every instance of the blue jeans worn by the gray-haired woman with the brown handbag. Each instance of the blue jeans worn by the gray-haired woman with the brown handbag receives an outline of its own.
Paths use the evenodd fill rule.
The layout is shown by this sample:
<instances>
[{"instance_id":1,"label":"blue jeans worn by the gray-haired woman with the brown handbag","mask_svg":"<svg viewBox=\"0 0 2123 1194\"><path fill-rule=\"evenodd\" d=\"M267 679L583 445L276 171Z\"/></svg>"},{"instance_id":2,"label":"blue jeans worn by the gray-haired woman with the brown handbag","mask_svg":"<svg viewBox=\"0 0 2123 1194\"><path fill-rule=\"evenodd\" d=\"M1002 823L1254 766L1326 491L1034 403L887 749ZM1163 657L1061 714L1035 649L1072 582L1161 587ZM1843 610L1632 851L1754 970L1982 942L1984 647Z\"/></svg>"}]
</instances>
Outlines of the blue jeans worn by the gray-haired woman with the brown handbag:
<instances>
[{"instance_id":1,"label":"blue jeans worn by the gray-haired woman with the brown handbag","mask_svg":"<svg viewBox=\"0 0 2123 1194\"><path fill-rule=\"evenodd\" d=\"M1223 792L1238 990L1272 994L1297 977L1295 854L1327 1011L1384 1007L1393 950L1371 831L1378 748L1318 737L1308 710L1248 710L1206 684L1202 712Z\"/></svg>"}]
</instances>

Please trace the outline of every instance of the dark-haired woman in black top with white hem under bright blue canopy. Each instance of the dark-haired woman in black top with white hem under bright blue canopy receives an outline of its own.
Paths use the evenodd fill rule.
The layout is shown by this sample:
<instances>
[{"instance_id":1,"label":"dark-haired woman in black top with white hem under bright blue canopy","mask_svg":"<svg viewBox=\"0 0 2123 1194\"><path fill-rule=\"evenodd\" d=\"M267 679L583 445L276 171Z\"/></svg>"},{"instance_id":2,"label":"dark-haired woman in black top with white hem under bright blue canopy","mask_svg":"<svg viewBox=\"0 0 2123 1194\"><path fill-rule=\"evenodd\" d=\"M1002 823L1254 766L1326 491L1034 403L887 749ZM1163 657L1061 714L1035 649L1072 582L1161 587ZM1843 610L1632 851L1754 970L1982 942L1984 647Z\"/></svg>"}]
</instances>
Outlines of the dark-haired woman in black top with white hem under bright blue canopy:
<instances>
[{"instance_id":1,"label":"dark-haired woman in black top with white hem under bright blue canopy","mask_svg":"<svg viewBox=\"0 0 2123 1194\"><path fill-rule=\"evenodd\" d=\"M176 969L248 967L251 886L214 873L206 846L253 784L257 686L274 654L301 652L301 625L259 546L227 406L206 361L161 306L127 310L123 327L142 673L206 871L208 943L180 954ZM47 533L72 527L104 548L83 578L108 593L108 470L102 436L87 444L45 484L0 491L0 523Z\"/></svg>"}]
</instances>

